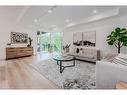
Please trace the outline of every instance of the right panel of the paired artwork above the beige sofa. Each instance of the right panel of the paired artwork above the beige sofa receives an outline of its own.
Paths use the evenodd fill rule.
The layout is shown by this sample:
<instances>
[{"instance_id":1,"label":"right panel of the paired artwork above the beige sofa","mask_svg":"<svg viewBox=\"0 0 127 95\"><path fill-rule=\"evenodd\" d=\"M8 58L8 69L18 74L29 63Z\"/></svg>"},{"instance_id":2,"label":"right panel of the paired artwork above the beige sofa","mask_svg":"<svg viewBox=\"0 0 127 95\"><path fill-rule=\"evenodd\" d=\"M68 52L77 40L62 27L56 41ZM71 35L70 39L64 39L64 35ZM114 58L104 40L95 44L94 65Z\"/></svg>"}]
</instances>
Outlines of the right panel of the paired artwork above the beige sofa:
<instances>
[{"instance_id":1,"label":"right panel of the paired artwork above the beige sofa","mask_svg":"<svg viewBox=\"0 0 127 95\"><path fill-rule=\"evenodd\" d=\"M96 32L95 31L83 32L83 46L95 47L95 45L96 45Z\"/></svg>"}]
</instances>

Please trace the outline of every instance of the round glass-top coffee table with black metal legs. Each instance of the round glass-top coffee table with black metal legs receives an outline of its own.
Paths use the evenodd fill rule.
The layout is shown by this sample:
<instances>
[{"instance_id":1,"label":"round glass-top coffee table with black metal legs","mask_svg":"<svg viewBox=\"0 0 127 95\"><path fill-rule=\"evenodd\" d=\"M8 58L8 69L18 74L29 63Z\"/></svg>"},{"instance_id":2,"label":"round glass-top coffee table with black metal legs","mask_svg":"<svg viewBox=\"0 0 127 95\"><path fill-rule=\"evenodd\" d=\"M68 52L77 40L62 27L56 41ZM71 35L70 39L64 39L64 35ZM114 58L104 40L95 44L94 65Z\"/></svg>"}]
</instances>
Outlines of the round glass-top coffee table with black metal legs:
<instances>
[{"instance_id":1,"label":"round glass-top coffee table with black metal legs","mask_svg":"<svg viewBox=\"0 0 127 95\"><path fill-rule=\"evenodd\" d=\"M75 66L75 57L74 56L62 56L56 55L53 57L54 60L57 61L57 65L60 66L60 73L67 67L74 67ZM63 66L63 62L73 61L73 65ZM65 64L65 63L64 63Z\"/></svg>"}]
</instances>

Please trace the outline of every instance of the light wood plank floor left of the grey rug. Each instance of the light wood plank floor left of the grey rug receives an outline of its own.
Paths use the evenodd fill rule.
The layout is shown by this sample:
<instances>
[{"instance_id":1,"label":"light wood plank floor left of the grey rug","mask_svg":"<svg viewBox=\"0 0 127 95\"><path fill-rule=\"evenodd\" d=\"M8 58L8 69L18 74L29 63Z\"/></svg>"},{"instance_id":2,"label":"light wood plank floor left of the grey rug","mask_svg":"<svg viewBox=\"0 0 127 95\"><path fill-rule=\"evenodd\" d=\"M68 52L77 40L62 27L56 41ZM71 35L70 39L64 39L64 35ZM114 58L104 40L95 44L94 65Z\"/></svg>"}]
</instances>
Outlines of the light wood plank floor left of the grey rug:
<instances>
[{"instance_id":1,"label":"light wood plank floor left of the grey rug","mask_svg":"<svg viewBox=\"0 0 127 95\"><path fill-rule=\"evenodd\" d=\"M58 89L29 65L40 60L32 56L0 61L0 89Z\"/></svg>"}]
</instances>

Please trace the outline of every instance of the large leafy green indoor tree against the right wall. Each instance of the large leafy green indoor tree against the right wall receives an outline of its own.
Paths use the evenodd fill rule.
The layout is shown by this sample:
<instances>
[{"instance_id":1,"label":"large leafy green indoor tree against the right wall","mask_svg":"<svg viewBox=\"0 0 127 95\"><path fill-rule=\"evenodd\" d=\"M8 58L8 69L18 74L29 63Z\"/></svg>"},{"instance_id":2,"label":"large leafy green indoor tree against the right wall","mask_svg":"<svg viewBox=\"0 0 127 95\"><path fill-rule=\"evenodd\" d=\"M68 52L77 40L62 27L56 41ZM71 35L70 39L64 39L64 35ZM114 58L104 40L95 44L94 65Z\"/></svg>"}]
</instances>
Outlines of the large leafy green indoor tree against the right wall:
<instances>
[{"instance_id":1,"label":"large leafy green indoor tree against the right wall","mask_svg":"<svg viewBox=\"0 0 127 95\"><path fill-rule=\"evenodd\" d=\"M127 47L127 29L117 27L110 35L107 36L106 41L109 45L115 45L118 49L118 53L120 53L121 47Z\"/></svg>"}]
</instances>

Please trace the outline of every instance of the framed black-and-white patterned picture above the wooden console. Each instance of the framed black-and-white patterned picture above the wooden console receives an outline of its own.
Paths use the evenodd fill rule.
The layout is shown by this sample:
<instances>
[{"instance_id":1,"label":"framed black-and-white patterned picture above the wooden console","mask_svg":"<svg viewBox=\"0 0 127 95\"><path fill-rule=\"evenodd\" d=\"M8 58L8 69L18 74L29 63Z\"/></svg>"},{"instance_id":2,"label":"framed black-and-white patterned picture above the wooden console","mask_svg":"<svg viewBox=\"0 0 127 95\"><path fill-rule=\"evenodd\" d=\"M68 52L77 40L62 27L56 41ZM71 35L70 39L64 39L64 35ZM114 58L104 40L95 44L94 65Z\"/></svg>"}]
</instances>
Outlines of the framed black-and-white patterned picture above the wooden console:
<instances>
[{"instance_id":1,"label":"framed black-and-white patterned picture above the wooden console","mask_svg":"<svg viewBox=\"0 0 127 95\"><path fill-rule=\"evenodd\" d=\"M27 44L27 42L27 33L11 32L11 44Z\"/></svg>"}]
</instances>

